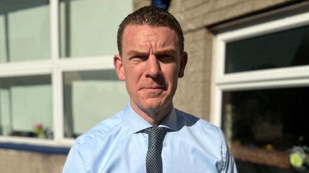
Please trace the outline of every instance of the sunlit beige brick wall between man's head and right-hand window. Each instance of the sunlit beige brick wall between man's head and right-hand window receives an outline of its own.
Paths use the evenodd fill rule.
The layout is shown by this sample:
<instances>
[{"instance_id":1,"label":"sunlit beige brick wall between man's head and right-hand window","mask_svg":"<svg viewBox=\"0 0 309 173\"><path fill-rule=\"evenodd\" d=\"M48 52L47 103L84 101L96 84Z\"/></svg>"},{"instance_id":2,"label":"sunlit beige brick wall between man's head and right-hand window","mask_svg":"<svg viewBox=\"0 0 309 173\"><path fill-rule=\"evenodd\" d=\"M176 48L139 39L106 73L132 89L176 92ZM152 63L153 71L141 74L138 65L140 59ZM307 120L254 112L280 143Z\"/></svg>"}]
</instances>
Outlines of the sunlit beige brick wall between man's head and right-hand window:
<instances>
[{"instance_id":1,"label":"sunlit beige brick wall between man's head and right-hand window","mask_svg":"<svg viewBox=\"0 0 309 173\"><path fill-rule=\"evenodd\" d=\"M201 28L184 34L188 63L178 80L174 106L184 112L209 119L210 64L212 34Z\"/></svg>"}]
</instances>

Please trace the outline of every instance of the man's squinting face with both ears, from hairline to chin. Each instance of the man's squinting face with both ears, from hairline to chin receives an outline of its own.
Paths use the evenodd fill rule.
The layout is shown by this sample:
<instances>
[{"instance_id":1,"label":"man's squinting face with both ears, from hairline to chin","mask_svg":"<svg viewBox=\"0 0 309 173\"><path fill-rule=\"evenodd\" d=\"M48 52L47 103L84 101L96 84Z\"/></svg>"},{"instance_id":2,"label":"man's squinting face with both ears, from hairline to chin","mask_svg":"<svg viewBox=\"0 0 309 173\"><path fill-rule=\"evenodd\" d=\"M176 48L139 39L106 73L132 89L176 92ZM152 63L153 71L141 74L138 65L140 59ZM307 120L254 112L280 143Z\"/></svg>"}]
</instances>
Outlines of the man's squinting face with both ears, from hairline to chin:
<instances>
[{"instance_id":1,"label":"man's squinting face with both ears, from hairline to chin","mask_svg":"<svg viewBox=\"0 0 309 173\"><path fill-rule=\"evenodd\" d=\"M148 110L171 106L186 62L187 53L180 52L174 30L146 25L127 26L122 55L114 56L118 78L125 80L131 104Z\"/></svg>"}]
</instances>

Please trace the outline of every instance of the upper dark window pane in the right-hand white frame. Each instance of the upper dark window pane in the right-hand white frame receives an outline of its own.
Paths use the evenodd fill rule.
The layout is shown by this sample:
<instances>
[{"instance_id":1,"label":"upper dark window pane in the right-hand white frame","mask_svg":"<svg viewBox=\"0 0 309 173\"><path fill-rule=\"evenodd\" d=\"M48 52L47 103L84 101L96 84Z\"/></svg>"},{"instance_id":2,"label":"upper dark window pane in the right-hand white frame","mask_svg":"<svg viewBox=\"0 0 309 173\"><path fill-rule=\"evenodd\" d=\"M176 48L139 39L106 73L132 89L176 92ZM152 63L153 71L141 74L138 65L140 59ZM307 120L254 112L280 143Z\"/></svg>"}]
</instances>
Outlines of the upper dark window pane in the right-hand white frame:
<instances>
[{"instance_id":1,"label":"upper dark window pane in the right-hand white frame","mask_svg":"<svg viewBox=\"0 0 309 173\"><path fill-rule=\"evenodd\" d=\"M309 26L226 44L225 73L309 64Z\"/></svg>"}]
</instances>

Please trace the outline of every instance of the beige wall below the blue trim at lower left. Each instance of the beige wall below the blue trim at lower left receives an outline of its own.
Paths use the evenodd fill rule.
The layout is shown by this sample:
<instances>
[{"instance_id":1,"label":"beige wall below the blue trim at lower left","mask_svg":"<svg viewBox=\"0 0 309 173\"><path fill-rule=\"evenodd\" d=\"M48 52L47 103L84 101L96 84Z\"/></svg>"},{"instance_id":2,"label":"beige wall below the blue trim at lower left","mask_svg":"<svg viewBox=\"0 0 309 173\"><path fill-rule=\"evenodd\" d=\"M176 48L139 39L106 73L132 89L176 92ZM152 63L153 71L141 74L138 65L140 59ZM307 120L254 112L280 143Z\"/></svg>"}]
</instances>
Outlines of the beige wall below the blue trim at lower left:
<instances>
[{"instance_id":1,"label":"beige wall below the blue trim at lower left","mask_svg":"<svg viewBox=\"0 0 309 173\"><path fill-rule=\"evenodd\" d=\"M0 149L1 173L59 173L66 155Z\"/></svg>"}]
</instances>

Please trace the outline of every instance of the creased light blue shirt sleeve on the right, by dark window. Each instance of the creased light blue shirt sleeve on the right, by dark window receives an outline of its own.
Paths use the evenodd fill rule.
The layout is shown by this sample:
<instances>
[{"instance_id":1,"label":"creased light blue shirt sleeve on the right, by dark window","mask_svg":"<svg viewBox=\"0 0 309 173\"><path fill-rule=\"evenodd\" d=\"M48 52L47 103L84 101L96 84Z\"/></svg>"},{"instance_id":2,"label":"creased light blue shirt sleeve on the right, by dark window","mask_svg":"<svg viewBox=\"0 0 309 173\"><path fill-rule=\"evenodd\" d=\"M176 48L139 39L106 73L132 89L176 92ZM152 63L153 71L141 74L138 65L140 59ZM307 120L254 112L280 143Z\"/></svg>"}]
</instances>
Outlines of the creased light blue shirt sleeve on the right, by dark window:
<instances>
[{"instance_id":1,"label":"creased light blue shirt sleeve on the right, by dark window","mask_svg":"<svg viewBox=\"0 0 309 173\"><path fill-rule=\"evenodd\" d=\"M224 164L222 167L222 171L220 173L237 173L236 165L234 158L229 150L229 147L224 139L224 135L222 135L222 156L224 159Z\"/></svg>"}]
</instances>

